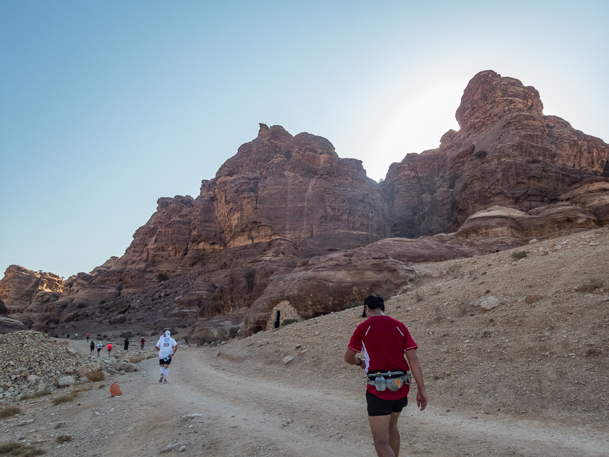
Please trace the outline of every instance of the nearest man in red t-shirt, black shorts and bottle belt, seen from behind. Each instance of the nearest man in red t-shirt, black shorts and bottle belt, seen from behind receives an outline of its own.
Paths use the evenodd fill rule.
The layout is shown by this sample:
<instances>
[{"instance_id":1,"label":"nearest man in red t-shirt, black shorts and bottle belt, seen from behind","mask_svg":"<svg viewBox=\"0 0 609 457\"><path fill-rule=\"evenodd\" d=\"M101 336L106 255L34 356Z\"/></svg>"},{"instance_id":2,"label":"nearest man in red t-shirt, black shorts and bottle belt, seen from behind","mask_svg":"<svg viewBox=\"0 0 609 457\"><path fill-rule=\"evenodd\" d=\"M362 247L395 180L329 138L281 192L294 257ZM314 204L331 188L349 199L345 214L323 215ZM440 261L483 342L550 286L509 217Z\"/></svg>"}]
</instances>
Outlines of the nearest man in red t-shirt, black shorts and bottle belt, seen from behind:
<instances>
[{"instance_id":1,"label":"nearest man in red t-shirt, black shorts and bottle belt, seen from behind","mask_svg":"<svg viewBox=\"0 0 609 457\"><path fill-rule=\"evenodd\" d=\"M368 374L366 402L377 455L398 457L398 418L408 404L410 373L417 381L417 406L421 411L427 406L427 392L416 353L417 344L406 325L385 316L384 311L385 302L381 297L366 297L362 317L367 319L351 336L345 362L360 366ZM364 360L355 356L359 352L364 353Z\"/></svg>"}]
</instances>

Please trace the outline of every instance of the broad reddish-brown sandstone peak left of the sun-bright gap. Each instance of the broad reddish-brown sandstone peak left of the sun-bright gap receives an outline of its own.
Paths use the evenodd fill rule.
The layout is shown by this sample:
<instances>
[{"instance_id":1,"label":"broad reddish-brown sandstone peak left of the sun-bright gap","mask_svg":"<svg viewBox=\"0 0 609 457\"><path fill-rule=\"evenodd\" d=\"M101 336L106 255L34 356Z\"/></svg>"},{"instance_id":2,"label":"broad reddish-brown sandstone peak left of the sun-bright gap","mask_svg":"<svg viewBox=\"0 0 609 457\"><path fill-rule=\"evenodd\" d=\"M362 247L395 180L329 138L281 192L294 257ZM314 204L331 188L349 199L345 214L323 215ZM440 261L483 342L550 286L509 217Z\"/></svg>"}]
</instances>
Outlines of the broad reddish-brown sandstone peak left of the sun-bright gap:
<instances>
[{"instance_id":1,"label":"broad reddish-brown sandstone peak left of the sun-bright gap","mask_svg":"<svg viewBox=\"0 0 609 457\"><path fill-rule=\"evenodd\" d=\"M86 290L120 286L129 297L195 271L191 288L172 302L172 317L230 313L303 258L384 238L387 214L380 186L359 160L338 157L320 136L261 124L255 140L203 181L197 199L159 199L127 253ZM76 300L83 302L81 291Z\"/></svg>"}]
</instances>

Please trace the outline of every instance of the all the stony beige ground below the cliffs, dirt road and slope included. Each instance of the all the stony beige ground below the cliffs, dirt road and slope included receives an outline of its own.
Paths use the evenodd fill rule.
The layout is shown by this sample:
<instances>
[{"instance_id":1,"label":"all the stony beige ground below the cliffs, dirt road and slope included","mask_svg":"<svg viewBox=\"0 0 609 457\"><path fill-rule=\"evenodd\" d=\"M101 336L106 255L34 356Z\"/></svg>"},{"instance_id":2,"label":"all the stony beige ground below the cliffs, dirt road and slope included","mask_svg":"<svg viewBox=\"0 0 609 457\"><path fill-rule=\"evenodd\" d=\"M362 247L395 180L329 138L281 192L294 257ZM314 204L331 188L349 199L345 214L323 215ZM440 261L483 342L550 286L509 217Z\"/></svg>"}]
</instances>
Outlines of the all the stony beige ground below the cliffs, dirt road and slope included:
<instances>
[{"instance_id":1,"label":"all the stony beige ground below the cliffs, dirt road and slope included","mask_svg":"<svg viewBox=\"0 0 609 457\"><path fill-rule=\"evenodd\" d=\"M420 346L429 395L425 411L402 414L402 455L607 455L609 230L412 266L417 280L385 310ZM375 455L364 377L342 361L359 322L361 307L220 347L180 341L168 384L152 359L105 381L10 395L2 410L20 412L1 420L0 442L57 456ZM11 335L0 340L9 363ZM68 349L96 363L85 341ZM120 397L110 397L113 382ZM72 401L55 404L68 392Z\"/></svg>"}]
</instances>

